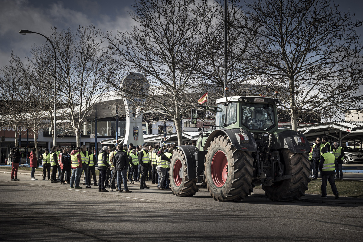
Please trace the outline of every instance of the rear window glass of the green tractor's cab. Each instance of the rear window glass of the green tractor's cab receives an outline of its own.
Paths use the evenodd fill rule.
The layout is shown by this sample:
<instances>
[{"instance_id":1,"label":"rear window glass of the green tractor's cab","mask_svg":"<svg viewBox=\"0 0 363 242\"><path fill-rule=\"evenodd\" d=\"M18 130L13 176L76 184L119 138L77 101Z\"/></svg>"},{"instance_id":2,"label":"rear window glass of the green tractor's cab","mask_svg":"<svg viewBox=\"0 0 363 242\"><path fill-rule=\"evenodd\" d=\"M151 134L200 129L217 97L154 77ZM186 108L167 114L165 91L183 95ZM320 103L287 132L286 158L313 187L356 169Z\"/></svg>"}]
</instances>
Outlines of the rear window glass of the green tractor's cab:
<instances>
[{"instance_id":1,"label":"rear window glass of the green tractor's cab","mask_svg":"<svg viewBox=\"0 0 363 242\"><path fill-rule=\"evenodd\" d=\"M273 105L242 104L242 124L251 130L267 130L275 124Z\"/></svg>"}]
</instances>

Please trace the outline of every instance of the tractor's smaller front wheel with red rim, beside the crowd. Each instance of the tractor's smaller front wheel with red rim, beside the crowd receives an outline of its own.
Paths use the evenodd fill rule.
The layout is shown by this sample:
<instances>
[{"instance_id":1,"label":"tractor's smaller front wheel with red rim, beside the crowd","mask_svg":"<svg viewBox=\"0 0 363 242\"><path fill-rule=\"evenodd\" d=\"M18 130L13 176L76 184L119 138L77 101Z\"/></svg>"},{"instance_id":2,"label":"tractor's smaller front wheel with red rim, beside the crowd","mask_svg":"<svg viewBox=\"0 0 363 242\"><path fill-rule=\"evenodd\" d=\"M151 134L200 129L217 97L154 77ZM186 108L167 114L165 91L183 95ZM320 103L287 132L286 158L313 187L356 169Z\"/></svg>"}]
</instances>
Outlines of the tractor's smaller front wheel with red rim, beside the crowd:
<instances>
[{"instance_id":1,"label":"tractor's smaller front wheel with red rim, beside the crowd","mask_svg":"<svg viewBox=\"0 0 363 242\"><path fill-rule=\"evenodd\" d=\"M197 179L188 179L187 160L181 149L177 149L170 162L170 188L175 196L194 196L198 192Z\"/></svg>"}]
</instances>

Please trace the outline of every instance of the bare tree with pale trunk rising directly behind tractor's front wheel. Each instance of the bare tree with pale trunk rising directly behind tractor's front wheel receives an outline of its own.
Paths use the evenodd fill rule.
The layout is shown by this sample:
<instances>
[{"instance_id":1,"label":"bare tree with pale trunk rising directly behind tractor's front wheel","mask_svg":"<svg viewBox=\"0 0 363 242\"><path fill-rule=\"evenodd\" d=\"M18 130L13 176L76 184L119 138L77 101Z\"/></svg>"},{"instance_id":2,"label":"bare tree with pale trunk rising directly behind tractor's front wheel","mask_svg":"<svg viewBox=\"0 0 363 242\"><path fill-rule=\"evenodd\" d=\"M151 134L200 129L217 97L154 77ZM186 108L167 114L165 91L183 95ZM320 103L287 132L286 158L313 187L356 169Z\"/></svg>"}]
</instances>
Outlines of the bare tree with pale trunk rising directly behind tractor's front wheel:
<instances>
[{"instance_id":1,"label":"bare tree with pale trunk rising directly behind tractor's front wheel","mask_svg":"<svg viewBox=\"0 0 363 242\"><path fill-rule=\"evenodd\" d=\"M180 121L195 105L196 75L192 71L201 56L195 53L197 34L203 22L193 0L140 0L132 7L136 22L130 32L101 34L130 71L144 74L148 95L140 96L145 110L154 110L174 121L178 143L182 141ZM138 87L130 86L130 89Z\"/></svg>"}]
</instances>

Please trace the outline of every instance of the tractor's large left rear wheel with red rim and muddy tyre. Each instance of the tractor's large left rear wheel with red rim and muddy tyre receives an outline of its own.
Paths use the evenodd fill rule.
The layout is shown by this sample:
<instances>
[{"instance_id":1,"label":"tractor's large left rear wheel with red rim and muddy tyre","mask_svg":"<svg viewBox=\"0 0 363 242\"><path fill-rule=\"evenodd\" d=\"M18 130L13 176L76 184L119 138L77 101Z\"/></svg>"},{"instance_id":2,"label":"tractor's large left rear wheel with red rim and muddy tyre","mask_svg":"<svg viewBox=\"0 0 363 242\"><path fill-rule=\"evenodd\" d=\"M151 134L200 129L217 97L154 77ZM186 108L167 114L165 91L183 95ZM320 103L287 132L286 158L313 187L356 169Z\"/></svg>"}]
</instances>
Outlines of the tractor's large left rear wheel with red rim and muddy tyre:
<instances>
[{"instance_id":1,"label":"tractor's large left rear wheel with red rim and muddy tyre","mask_svg":"<svg viewBox=\"0 0 363 242\"><path fill-rule=\"evenodd\" d=\"M250 152L233 147L227 135L220 135L208 147L205 182L217 201L244 199L252 192L253 158Z\"/></svg>"}]
</instances>

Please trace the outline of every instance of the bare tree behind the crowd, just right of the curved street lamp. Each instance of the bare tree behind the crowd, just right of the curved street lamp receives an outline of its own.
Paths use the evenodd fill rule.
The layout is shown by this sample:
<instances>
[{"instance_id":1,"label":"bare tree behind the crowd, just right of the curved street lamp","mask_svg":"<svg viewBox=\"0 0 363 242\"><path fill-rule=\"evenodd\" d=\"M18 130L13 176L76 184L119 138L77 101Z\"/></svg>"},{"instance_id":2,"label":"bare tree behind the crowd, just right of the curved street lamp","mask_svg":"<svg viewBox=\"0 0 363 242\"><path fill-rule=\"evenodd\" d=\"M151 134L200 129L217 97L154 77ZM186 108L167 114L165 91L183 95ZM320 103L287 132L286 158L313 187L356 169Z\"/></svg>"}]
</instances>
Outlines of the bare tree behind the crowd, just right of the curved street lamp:
<instances>
[{"instance_id":1,"label":"bare tree behind the crowd, just right of the curved street lamp","mask_svg":"<svg viewBox=\"0 0 363 242\"><path fill-rule=\"evenodd\" d=\"M118 81L118 68L94 26L79 26L75 33L71 29L58 31L54 27L51 30L49 38L57 52L57 102L63 105L57 112L62 119L70 121L79 146L84 122L94 111L94 104L107 95L107 83ZM33 52L46 50L38 48ZM36 56L42 58L45 54Z\"/></svg>"}]
</instances>

